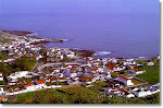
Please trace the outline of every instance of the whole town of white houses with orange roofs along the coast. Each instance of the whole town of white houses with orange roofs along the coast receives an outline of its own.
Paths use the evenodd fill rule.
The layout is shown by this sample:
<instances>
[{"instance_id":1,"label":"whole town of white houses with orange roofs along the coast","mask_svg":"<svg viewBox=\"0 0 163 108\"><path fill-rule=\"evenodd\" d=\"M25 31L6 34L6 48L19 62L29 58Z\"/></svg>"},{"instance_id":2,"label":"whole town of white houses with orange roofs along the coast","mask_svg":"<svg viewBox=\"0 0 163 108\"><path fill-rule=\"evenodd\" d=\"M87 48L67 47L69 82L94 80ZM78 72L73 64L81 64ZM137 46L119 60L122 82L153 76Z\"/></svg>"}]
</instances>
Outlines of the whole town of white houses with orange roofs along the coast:
<instances>
[{"instance_id":1,"label":"whole town of white houses with orange roofs along the coast","mask_svg":"<svg viewBox=\"0 0 163 108\"><path fill-rule=\"evenodd\" d=\"M11 58L4 61L0 60L0 62L12 63L23 55L35 55L38 62L45 58L45 56L40 53L41 47L34 44L42 41L42 38L16 35L10 35L8 38L14 40L0 44L0 51L8 51L8 56ZM61 62L65 58L76 60ZM92 57L77 59L75 52L66 48L61 49L58 47L47 48L46 59L47 61L40 63L35 72L21 71L10 74L7 77L8 83L0 87L0 99L5 101L7 99L4 97L8 95L61 87L64 85L78 84L86 85L87 87L93 82L97 83L101 81L109 81L109 85L111 84L110 87L104 88L104 93L110 96L117 95L122 97L126 96L128 98L135 96L146 97L160 92L159 84L150 87L134 87L137 85L135 83L137 80L135 76L146 72L146 70L138 69L145 64L137 63L136 59L98 59ZM160 56L158 56L156 59L160 59ZM154 65L154 62L149 60L146 65L152 67ZM113 73L116 74L115 77L113 77ZM0 81L4 81L1 73ZM145 83L143 81L139 82ZM129 87L129 89L126 87Z\"/></svg>"}]
</instances>

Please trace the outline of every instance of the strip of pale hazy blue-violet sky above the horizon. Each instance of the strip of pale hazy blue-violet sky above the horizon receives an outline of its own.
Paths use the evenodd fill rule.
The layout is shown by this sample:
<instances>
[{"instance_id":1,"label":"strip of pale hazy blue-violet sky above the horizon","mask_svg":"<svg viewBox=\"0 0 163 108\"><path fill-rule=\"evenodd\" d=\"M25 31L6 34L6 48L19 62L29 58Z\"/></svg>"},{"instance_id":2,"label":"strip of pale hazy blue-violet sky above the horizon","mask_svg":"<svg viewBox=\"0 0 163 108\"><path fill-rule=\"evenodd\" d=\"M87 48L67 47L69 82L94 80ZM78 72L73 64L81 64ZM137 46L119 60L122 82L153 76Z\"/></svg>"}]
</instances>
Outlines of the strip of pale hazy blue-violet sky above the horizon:
<instances>
[{"instance_id":1,"label":"strip of pale hazy blue-violet sky above the horizon","mask_svg":"<svg viewBox=\"0 0 163 108\"><path fill-rule=\"evenodd\" d=\"M47 13L50 10L59 10L60 8L62 11L72 8L74 11L83 11L87 8L88 12L95 9L105 11L106 8L110 8L114 13L158 13L160 10L159 0L100 0L100 2L99 0L0 0L0 12Z\"/></svg>"}]
</instances>

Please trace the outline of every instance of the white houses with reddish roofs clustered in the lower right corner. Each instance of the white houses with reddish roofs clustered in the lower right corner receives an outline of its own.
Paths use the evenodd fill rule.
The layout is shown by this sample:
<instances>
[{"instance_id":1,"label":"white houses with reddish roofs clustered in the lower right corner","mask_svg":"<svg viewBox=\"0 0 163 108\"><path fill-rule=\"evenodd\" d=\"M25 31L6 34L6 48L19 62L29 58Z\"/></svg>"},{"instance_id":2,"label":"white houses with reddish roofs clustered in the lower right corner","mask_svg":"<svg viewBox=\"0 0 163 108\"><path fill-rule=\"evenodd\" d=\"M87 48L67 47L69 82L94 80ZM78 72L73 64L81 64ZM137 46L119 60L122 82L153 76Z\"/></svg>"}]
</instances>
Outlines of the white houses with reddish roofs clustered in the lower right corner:
<instances>
[{"instance_id":1,"label":"white houses with reddish roofs clustered in the lower right corner","mask_svg":"<svg viewBox=\"0 0 163 108\"><path fill-rule=\"evenodd\" d=\"M104 88L104 92L106 95L111 97L115 95L121 97L127 97L127 98L146 97L159 93L160 83L147 87L140 86L140 87L129 87L129 88L124 88L120 84L115 84L113 87Z\"/></svg>"}]
</instances>

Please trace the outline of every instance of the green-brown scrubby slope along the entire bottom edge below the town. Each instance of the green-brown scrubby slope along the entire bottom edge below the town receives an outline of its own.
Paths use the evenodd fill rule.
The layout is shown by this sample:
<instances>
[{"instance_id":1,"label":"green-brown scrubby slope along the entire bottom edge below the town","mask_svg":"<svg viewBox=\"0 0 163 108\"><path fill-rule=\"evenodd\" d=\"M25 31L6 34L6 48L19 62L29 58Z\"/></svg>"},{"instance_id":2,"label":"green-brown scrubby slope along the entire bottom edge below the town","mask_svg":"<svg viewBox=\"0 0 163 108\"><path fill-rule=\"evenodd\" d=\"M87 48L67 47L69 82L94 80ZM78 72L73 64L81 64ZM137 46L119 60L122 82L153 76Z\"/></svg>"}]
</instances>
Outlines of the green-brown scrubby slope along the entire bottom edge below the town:
<instances>
[{"instance_id":1,"label":"green-brown scrubby slope along the entire bottom edge below the town","mask_svg":"<svg viewBox=\"0 0 163 108\"><path fill-rule=\"evenodd\" d=\"M99 83L93 88L97 91L100 88L99 86L104 85L104 83ZM64 86L17 95L12 104L160 104L160 94L146 98L125 98L99 96L98 93L92 88L85 88L79 85Z\"/></svg>"}]
</instances>

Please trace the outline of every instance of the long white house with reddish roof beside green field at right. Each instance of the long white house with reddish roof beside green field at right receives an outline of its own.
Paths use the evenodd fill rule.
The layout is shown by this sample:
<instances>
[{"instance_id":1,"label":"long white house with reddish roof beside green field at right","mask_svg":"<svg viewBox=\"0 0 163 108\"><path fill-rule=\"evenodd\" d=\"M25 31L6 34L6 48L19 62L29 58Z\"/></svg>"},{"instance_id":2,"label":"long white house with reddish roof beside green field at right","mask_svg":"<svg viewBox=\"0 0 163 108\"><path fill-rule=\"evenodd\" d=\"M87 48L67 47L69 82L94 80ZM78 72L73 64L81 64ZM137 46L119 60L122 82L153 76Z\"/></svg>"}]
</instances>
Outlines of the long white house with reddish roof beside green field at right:
<instances>
[{"instance_id":1,"label":"long white house with reddish roof beside green field at right","mask_svg":"<svg viewBox=\"0 0 163 108\"><path fill-rule=\"evenodd\" d=\"M134 85L130 77L125 77L125 76L118 75L117 81L124 83L125 85Z\"/></svg>"}]
</instances>

